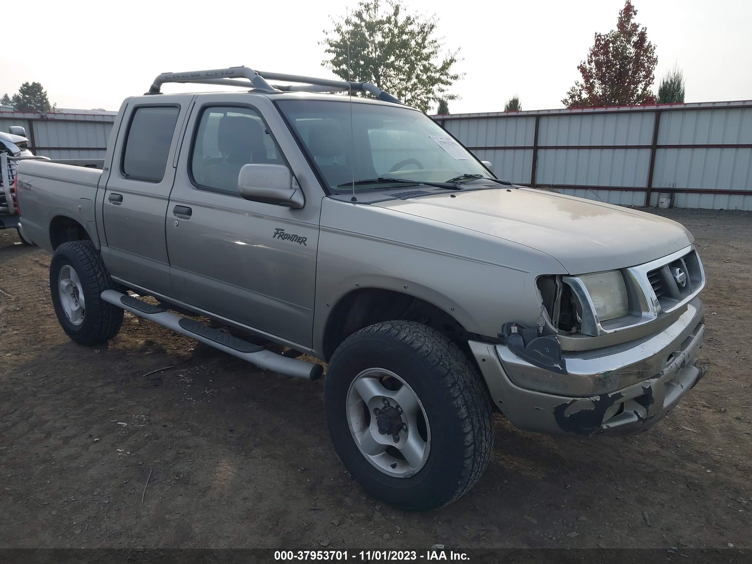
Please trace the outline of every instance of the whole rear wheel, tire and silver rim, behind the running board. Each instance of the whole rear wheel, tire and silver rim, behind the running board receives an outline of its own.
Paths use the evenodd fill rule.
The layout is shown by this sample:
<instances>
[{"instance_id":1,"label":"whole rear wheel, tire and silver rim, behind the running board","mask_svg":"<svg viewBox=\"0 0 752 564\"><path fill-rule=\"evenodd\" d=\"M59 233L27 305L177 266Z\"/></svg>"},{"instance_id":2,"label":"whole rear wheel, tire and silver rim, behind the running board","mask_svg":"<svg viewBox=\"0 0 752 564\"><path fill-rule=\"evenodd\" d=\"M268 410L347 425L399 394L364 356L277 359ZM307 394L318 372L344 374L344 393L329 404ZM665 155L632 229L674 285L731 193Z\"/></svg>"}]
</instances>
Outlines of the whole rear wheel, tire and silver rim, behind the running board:
<instances>
[{"instance_id":1,"label":"whole rear wheel, tire and silver rim, behind the running board","mask_svg":"<svg viewBox=\"0 0 752 564\"><path fill-rule=\"evenodd\" d=\"M123 310L105 302L115 290L110 273L91 241L63 243L50 262L50 293L63 331L78 344L109 341L123 323Z\"/></svg>"}]
</instances>

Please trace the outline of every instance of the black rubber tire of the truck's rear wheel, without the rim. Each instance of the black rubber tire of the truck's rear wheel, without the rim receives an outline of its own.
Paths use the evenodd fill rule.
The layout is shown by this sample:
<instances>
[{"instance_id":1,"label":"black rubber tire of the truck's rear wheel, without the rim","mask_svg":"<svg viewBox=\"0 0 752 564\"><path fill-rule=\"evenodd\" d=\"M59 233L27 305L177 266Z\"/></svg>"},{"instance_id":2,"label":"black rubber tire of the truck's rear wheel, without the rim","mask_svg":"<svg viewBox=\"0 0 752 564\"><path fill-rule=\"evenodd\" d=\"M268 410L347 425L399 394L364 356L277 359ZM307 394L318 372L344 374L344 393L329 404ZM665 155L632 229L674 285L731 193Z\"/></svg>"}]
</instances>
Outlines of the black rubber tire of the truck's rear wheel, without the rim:
<instances>
[{"instance_id":1,"label":"black rubber tire of the truck's rear wheel, without the rim","mask_svg":"<svg viewBox=\"0 0 752 564\"><path fill-rule=\"evenodd\" d=\"M86 307L79 325L71 323L60 301L59 274L66 265L73 268L83 290ZM102 344L120 331L123 310L102 299L105 290L117 290L117 286L91 241L71 241L57 247L50 262L50 294L60 326L78 344Z\"/></svg>"}]
</instances>

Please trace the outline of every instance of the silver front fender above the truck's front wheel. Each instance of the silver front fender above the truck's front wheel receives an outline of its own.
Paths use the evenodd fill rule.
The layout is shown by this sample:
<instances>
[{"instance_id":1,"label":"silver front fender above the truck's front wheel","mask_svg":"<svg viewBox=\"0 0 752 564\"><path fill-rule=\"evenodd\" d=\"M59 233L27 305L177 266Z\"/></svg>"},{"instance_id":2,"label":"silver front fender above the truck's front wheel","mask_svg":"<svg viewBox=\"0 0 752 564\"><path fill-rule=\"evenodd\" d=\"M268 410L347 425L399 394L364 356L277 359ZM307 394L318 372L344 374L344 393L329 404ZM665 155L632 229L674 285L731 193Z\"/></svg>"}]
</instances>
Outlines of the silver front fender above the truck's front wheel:
<instances>
[{"instance_id":1,"label":"silver front fender above the truck's front wheel","mask_svg":"<svg viewBox=\"0 0 752 564\"><path fill-rule=\"evenodd\" d=\"M550 256L519 244L383 208L324 199L314 351L323 352L329 314L353 290L378 288L414 296L446 312L468 332L495 336L509 320L535 326L542 308L535 277L561 271Z\"/></svg>"}]
</instances>

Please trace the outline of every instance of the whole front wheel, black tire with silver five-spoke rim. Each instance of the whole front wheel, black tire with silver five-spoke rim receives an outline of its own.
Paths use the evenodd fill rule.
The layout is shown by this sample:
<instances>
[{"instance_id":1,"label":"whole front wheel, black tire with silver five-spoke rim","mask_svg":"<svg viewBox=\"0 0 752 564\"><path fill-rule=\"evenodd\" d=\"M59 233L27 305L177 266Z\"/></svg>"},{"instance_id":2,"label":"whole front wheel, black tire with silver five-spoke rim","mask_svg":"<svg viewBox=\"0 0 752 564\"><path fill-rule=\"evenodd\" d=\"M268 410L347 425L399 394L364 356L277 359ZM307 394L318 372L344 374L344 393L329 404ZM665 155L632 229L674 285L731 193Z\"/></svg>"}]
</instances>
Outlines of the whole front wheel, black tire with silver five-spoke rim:
<instances>
[{"instance_id":1,"label":"whole front wheel, black tire with silver five-spoke rim","mask_svg":"<svg viewBox=\"0 0 752 564\"><path fill-rule=\"evenodd\" d=\"M491 401L478 368L420 323L387 321L350 335L329 362L324 403L345 467L396 507L453 502L490 459Z\"/></svg>"}]
</instances>

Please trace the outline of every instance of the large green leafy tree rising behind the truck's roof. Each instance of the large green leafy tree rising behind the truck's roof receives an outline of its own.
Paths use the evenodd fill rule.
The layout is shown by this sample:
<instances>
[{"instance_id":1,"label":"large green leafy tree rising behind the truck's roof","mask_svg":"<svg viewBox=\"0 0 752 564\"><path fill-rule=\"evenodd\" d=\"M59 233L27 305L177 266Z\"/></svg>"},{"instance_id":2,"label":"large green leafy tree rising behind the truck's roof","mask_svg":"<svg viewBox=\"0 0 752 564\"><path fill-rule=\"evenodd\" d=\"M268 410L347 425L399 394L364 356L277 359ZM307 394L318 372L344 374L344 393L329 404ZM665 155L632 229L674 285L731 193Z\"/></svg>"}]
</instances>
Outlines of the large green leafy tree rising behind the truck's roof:
<instances>
[{"instance_id":1,"label":"large green leafy tree rising behind the truck's roof","mask_svg":"<svg viewBox=\"0 0 752 564\"><path fill-rule=\"evenodd\" d=\"M444 50L443 38L435 36L437 23L434 15L408 14L400 0L361 0L324 30L323 65L343 80L374 83L428 111L441 100L458 99L447 89L462 77L452 70L457 51Z\"/></svg>"}]
</instances>

